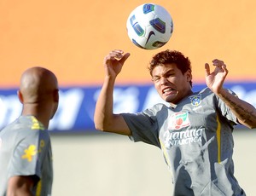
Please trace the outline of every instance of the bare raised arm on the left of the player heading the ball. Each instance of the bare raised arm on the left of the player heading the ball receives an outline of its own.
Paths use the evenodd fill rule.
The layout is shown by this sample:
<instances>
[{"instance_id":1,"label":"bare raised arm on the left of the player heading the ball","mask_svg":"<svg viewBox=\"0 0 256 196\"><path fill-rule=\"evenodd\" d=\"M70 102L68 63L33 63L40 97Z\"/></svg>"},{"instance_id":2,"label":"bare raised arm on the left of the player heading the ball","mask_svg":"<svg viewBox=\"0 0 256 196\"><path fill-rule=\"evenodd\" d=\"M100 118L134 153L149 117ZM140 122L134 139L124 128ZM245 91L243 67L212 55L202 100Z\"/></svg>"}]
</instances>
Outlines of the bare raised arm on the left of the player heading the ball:
<instances>
[{"instance_id":1,"label":"bare raised arm on the left of the player heading the ball","mask_svg":"<svg viewBox=\"0 0 256 196\"><path fill-rule=\"evenodd\" d=\"M113 50L104 58L105 78L101 93L96 102L94 122L96 130L122 135L131 135L131 130L120 114L113 114L113 88L117 75L129 57L122 50Z\"/></svg>"}]
</instances>

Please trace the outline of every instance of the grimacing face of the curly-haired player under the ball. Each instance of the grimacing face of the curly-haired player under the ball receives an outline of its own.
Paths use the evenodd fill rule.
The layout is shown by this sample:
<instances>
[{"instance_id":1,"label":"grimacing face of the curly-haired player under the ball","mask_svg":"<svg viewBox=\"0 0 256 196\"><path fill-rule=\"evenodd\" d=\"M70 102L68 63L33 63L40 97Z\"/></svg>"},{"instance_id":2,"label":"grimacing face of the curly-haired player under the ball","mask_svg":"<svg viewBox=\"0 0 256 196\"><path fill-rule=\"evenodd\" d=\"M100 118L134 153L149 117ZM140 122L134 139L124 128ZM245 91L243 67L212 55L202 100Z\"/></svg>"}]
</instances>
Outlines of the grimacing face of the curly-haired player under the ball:
<instances>
[{"instance_id":1,"label":"grimacing face of the curly-haired player under the ball","mask_svg":"<svg viewBox=\"0 0 256 196\"><path fill-rule=\"evenodd\" d=\"M155 89L163 100L173 104L192 93L191 79L190 71L183 74L174 63L156 66L152 72Z\"/></svg>"}]
</instances>

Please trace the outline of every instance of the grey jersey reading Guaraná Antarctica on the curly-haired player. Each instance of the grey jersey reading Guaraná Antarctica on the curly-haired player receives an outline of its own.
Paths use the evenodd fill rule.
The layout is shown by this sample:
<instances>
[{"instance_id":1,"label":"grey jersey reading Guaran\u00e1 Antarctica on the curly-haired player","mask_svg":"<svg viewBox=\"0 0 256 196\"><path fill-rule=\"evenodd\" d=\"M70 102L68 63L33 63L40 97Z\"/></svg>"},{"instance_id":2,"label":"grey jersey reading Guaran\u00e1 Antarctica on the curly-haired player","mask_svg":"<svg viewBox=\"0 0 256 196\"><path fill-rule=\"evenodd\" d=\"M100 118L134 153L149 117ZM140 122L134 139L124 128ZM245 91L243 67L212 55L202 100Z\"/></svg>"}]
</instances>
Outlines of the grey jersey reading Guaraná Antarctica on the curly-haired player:
<instances>
[{"instance_id":1,"label":"grey jersey reading Guaran\u00e1 Antarctica on the curly-haired player","mask_svg":"<svg viewBox=\"0 0 256 196\"><path fill-rule=\"evenodd\" d=\"M232 159L237 119L210 89L184 98L175 108L157 104L122 116L131 140L161 148L172 173L173 195L245 195Z\"/></svg>"}]
</instances>

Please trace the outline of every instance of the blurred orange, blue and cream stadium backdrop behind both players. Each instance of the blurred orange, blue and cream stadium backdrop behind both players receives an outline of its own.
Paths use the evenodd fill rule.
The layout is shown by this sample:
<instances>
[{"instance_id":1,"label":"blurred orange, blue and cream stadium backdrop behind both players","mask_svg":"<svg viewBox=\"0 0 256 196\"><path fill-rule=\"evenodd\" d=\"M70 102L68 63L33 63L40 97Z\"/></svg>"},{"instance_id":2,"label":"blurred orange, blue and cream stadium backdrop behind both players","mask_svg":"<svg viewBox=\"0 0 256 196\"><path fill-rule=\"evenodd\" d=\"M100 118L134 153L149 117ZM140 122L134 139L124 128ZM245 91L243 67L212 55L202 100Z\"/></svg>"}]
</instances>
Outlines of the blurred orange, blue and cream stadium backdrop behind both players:
<instances>
[{"instance_id":1,"label":"blurred orange, blue and cream stadium backdrop behind both players","mask_svg":"<svg viewBox=\"0 0 256 196\"><path fill-rule=\"evenodd\" d=\"M171 195L171 174L160 150L121 135L94 130L93 112L112 49L131 57L115 89L115 111L137 112L160 101L148 61L163 49L189 56L195 90L204 86L204 64L224 60L227 87L256 106L254 59L256 3L245 1L154 1L170 11L174 32L161 49L143 50L129 40L125 23L146 1L2 1L0 3L0 127L20 114L16 98L21 72L45 66L55 72L61 103L51 122L55 161L53 195ZM255 131L235 130L236 177L254 195Z\"/></svg>"}]
</instances>

